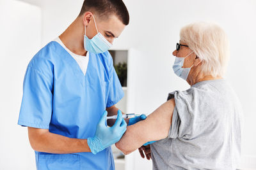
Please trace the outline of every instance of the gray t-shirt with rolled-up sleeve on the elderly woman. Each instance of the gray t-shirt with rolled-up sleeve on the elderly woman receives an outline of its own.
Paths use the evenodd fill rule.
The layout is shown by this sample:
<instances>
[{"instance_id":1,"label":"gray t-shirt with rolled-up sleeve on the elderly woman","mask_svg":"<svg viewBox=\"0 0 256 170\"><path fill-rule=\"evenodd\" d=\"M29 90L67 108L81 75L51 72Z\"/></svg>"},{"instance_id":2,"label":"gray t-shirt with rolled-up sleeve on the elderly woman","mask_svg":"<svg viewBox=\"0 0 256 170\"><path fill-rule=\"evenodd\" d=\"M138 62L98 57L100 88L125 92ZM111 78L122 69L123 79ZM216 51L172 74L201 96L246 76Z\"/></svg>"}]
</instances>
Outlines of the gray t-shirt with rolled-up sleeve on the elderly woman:
<instances>
[{"instance_id":1,"label":"gray t-shirt with rolled-up sleeve on the elderly woman","mask_svg":"<svg viewBox=\"0 0 256 170\"><path fill-rule=\"evenodd\" d=\"M168 137L151 145L153 169L236 169L243 111L227 81L200 81L173 97Z\"/></svg>"}]
</instances>

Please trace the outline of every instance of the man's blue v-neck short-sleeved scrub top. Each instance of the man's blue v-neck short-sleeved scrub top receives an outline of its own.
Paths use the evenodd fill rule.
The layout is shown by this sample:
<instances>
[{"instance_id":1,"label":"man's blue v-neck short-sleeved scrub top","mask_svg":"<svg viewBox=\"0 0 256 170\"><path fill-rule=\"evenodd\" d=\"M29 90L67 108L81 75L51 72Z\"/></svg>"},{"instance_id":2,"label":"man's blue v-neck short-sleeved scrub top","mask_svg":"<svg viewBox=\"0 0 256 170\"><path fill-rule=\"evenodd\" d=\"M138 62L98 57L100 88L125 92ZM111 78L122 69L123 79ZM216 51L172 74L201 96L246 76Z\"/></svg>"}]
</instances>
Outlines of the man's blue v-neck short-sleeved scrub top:
<instances>
[{"instance_id":1,"label":"man's blue v-neck short-sleeved scrub top","mask_svg":"<svg viewBox=\"0 0 256 170\"><path fill-rule=\"evenodd\" d=\"M76 60L52 41L31 59L23 83L19 125L69 138L93 137L106 108L124 96L109 52L89 53L84 76ZM115 169L111 147L90 152L36 152L37 169Z\"/></svg>"}]
</instances>

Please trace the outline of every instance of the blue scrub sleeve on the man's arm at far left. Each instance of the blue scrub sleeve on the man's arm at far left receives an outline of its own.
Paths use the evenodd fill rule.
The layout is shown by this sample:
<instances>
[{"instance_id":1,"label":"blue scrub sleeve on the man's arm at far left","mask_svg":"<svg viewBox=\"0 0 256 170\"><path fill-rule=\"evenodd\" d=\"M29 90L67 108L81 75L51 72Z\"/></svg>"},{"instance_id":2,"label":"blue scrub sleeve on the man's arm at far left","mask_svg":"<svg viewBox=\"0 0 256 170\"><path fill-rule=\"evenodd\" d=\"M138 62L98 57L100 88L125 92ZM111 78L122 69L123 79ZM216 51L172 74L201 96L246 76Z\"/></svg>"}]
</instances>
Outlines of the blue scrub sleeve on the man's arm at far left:
<instances>
[{"instance_id":1,"label":"blue scrub sleeve on the man's arm at far left","mask_svg":"<svg viewBox=\"0 0 256 170\"><path fill-rule=\"evenodd\" d=\"M52 115L52 77L51 74L44 73L42 70L31 66L33 62L35 60L30 62L24 76L18 124L49 129ZM45 67L45 70L47 70L47 67Z\"/></svg>"}]
</instances>

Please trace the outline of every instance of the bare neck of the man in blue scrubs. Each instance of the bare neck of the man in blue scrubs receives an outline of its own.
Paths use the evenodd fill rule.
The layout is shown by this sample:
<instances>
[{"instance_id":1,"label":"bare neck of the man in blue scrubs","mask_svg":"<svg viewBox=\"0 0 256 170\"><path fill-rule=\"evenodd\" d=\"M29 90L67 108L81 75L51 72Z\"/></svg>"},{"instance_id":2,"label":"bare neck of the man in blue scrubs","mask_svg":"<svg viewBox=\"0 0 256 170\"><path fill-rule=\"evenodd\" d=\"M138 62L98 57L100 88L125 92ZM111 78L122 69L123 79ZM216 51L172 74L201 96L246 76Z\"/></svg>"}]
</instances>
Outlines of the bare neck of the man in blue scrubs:
<instances>
[{"instance_id":1,"label":"bare neck of the man in blue scrubs","mask_svg":"<svg viewBox=\"0 0 256 170\"><path fill-rule=\"evenodd\" d=\"M81 18L76 18L71 25L59 36L62 43L73 53L86 56L84 50L84 25Z\"/></svg>"}]
</instances>

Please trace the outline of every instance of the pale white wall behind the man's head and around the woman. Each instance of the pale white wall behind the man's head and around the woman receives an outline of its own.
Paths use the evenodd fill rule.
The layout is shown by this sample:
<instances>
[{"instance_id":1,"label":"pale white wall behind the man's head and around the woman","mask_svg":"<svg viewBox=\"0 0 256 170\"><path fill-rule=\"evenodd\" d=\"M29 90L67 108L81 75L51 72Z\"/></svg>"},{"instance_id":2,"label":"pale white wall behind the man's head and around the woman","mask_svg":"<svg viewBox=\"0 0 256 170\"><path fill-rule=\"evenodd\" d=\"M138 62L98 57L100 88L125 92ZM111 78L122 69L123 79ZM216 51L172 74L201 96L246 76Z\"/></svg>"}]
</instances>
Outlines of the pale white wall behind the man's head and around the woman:
<instances>
[{"instance_id":1,"label":"pale white wall behind the man's head and around the woman","mask_svg":"<svg viewBox=\"0 0 256 170\"><path fill-rule=\"evenodd\" d=\"M32 1L32 0L25 0ZM61 34L76 18L83 0L33 1L42 7L42 45ZM253 0L125 0L131 22L113 49L133 48L141 53L136 60L137 113L150 113L166 100L168 92L187 89L185 81L172 71L172 51L182 26L198 20L218 22L230 37L231 58L227 79L232 83L244 108L243 166L256 167L256 1ZM24 20L22 20L24 21ZM144 166L135 154L134 169ZM248 161L248 160L251 160ZM146 162L146 160L144 160ZM254 166L253 166L254 164Z\"/></svg>"}]
</instances>

